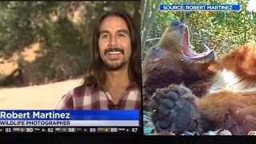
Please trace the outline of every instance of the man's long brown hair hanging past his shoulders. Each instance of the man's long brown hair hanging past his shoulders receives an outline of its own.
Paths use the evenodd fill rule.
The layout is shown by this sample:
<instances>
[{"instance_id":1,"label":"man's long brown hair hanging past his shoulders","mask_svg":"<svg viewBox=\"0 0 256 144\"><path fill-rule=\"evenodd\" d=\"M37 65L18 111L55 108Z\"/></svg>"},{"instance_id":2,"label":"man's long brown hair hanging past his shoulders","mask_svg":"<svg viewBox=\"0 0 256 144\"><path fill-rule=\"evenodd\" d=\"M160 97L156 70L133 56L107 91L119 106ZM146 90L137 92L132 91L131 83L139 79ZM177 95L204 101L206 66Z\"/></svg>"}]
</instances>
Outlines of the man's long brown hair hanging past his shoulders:
<instances>
[{"instance_id":1,"label":"man's long brown hair hanging past his shoulders","mask_svg":"<svg viewBox=\"0 0 256 144\"><path fill-rule=\"evenodd\" d=\"M134 26L134 20L123 10L111 10L103 12L99 15L96 25L94 26L94 35L92 38L92 50L91 57L92 62L90 63L89 69L83 78L82 85L84 86L102 86L106 82L106 74L104 63L99 54L98 48L98 38L99 38L99 26L102 20L109 16L118 16L124 18L130 32L130 42L131 42L131 56L128 66L128 74L131 82L135 82L139 87L141 86L142 76L141 76L141 63L140 63L140 53L141 53L141 38L140 29Z\"/></svg>"}]
</instances>

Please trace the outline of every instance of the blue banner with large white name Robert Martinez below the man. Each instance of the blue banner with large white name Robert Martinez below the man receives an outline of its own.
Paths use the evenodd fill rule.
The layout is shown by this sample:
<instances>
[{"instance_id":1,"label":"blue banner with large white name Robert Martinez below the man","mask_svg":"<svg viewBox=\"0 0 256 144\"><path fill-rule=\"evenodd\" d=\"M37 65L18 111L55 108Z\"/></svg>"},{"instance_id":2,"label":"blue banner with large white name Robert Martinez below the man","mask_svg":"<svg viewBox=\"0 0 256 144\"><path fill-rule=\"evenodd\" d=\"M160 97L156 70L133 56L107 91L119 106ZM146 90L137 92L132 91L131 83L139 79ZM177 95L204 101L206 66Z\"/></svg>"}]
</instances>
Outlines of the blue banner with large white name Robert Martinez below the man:
<instances>
[{"instance_id":1,"label":"blue banner with large white name Robert Martinez below the man","mask_svg":"<svg viewBox=\"0 0 256 144\"><path fill-rule=\"evenodd\" d=\"M139 120L139 110L0 110L0 120Z\"/></svg>"}]
</instances>

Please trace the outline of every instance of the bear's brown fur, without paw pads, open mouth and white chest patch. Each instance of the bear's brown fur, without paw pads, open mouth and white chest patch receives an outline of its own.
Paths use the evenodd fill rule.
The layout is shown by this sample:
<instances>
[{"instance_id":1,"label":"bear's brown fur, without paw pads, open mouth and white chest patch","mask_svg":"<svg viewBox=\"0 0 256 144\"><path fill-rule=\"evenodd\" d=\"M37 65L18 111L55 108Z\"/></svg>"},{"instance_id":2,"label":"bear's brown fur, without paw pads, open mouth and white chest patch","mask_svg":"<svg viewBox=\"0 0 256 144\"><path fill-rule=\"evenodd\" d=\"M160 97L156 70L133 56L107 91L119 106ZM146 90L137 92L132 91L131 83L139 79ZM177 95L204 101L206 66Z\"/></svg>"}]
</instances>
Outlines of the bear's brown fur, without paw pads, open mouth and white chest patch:
<instances>
[{"instance_id":1,"label":"bear's brown fur, without paw pads, open mouth and white chest patch","mask_svg":"<svg viewBox=\"0 0 256 144\"><path fill-rule=\"evenodd\" d=\"M256 130L256 92L218 90L207 94L214 83L214 75L220 70L230 70L246 88L256 87L256 47L245 44L224 54L220 62L186 62L180 47L186 27L166 29L162 40L146 55L142 65L144 110L150 107L155 90L170 84L183 83L192 93L203 130L227 129L232 134L248 134ZM202 97L202 98L201 98ZM191 97L192 98L192 97ZM213 122L214 124L210 124ZM202 124L199 124L202 125Z\"/></svg>"}]
</instances>

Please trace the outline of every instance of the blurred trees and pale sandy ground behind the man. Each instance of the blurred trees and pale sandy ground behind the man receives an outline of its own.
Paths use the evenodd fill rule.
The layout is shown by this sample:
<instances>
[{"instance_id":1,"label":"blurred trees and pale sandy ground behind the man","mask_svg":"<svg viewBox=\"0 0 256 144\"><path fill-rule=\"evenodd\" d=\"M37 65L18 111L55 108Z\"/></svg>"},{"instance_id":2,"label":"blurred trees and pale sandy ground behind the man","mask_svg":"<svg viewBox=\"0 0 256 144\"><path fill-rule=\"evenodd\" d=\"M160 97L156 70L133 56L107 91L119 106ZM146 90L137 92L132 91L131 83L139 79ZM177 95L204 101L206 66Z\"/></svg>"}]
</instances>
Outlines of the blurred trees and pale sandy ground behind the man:
<instances>
[{"instance_id":1,"label":"blurred trees and pale sandy ground behind the man","mask_svg":"<svg viewBox=\"0 0 256 144\"><path fill-rule=\"evenodd\" d=\"M140 2L0 2L0 110L54 109L90 64L98 14ZM139 29L138 29L139 30Z\"/></svg>"}]
</instances>

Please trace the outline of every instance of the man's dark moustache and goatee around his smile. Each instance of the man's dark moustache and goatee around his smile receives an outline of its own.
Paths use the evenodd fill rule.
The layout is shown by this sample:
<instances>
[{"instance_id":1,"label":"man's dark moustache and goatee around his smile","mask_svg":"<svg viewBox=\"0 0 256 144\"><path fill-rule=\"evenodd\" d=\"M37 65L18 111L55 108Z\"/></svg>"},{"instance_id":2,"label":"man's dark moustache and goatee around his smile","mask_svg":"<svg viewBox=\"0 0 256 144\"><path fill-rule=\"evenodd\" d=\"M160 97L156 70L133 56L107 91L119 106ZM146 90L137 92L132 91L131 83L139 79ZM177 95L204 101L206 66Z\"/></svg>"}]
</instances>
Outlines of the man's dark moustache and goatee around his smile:
<instances>
[{"instance_id":1,"label":"man's dark moustache and goatee around his smile","mask_svg":"<svg viewBox=\"0 0 256 144\"><path fill-rule=\"evenodd\" d=\"M106 55L107 53L112 52L112 51L119 51L121 54L124 54L124 51L117 47L114 47L114 48L110 47L109 49L106 49L104 51L104 54ZM118 61L118 59L114 58L114 59L110 59L110 61ZM120 70L125 65L126 65L125 60L123 60L122 62L120 62L118 64L110 64L108 62L104 62L105 70L109 70L109 71Z\"/></svg>"}]
</instances>

